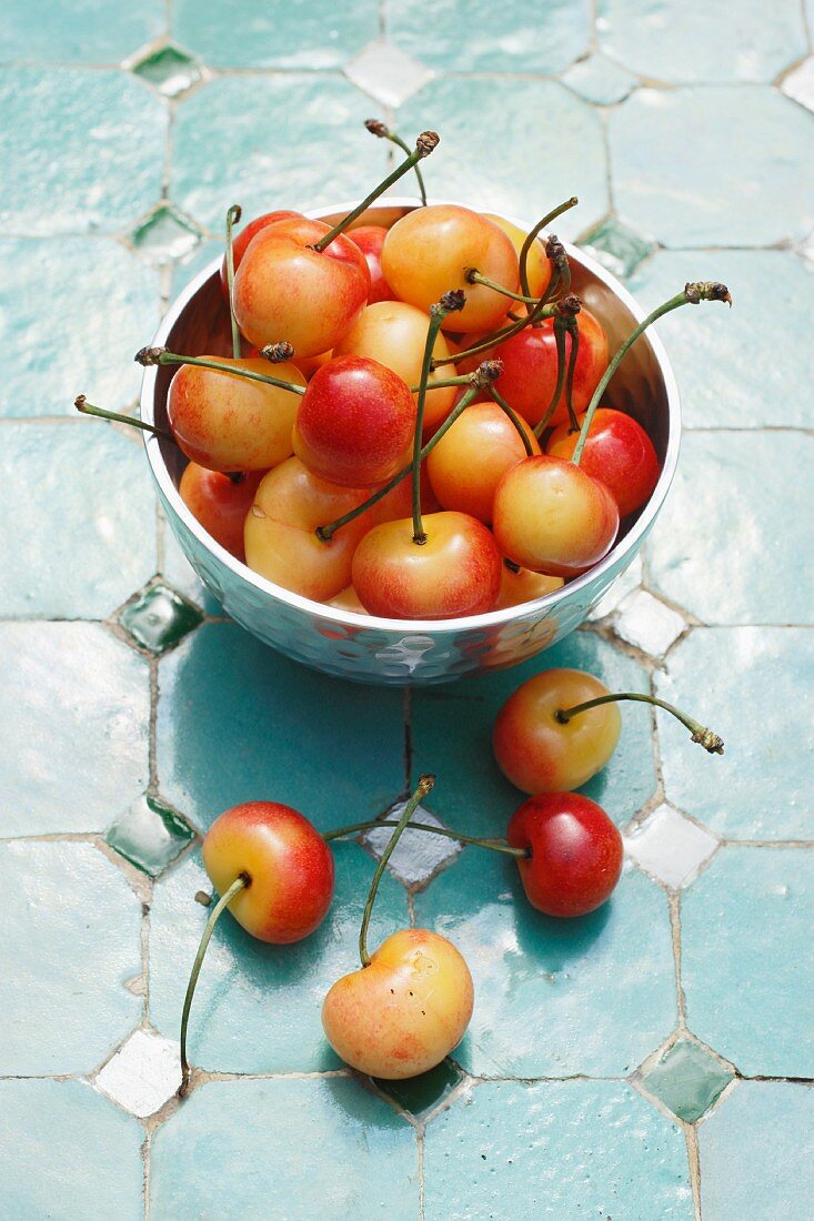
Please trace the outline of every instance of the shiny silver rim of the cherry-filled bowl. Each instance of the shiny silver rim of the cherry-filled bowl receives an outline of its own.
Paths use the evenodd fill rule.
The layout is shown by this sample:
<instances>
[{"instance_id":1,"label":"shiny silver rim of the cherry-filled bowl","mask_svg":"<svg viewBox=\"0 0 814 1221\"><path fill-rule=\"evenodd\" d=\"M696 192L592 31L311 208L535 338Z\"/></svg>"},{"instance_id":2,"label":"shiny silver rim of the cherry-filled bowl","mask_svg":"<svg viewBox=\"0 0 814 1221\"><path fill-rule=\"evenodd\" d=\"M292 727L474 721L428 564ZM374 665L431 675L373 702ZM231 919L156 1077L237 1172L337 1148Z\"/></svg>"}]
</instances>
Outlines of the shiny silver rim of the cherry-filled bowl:
<instances>
[{"instance_id":1,"label":"shiny silver rim of the cherry-filled bowl","mask_svg":"<svg viewBox=\"0 0 814 1221\"><path fill-rule=\"evenodd\" d=\"M508 215L502 210L495 210L491 205L485 204L473 204L462 203L455 199L428 199L428 205L438 204L457 204L462 208L469 208L473 211L485 212L489 211L491 215L500 215L504 220L510 221L512 225L518 226L528 231L532 228L532 223L526 220L518 219L513 215ZM341 201L337 204L326 204L320 208L310 208L303 211L303 215L310 220L321 220L325 216L334 216L335 214L350 212L356 208L358 200ZM390 209L390 208L406 208L416 209L422 206L420 199L411 195L384 195L372 205L370 211L376 209ZM598 263L592 255L587 254L579 247L571 242L563 242L566 253L570 259L581 264L590 275L599 280L615 297L620 299L622 305L625 305L629 313L633 315L636 322L642 322L647 316L642 306L638 304L636 298L625 288L625 286L607 271L600 263ZM214 276L219 275L222 255L213 259L211 263L207 264L202 271L194 276L186 287L178 293L178 295L172 300L166 314L161 319L161 322L155 332L152 341L154 347L164 347L169 335L178 319L181 317L183 310L192 300L192 298L203 288L203 286ZM616 563L628 552L636 553L640 542L647 536L650 526L655 521L661 505L666 498L670 485L672 484L676 466L678 462L678 448L681 443L681 402L678 394L678 385L676 382L672 366L667 358L667 353L661 343L659 336L654 332L653 327L642 336L642 341L649 343L653 355L659 366L659 372L664 381L666 399L667 399L667 446L664 458L664 465L659 475L650 498L644 507L642 514L634 525L628 530L621 542L615 543L609 553L593 568L583 573L582 576L574 578L568 581L561 589L555 590L552 593L546 593L541 598L535 598L529 602L521 602L516 606L504 607L499 610L488 610L484 614L478 615L460 615L455 619L386 619L380 615L372 614L359 614L356 610L346 610L341 607L328 606L323 602L314 602L310 598L306 598L299 593L295 593L291 590L286 590L281 585L275 585L273 581L266 580L260 576L259 573L254 573L251 568L243 564L241 560L236 559L230 552L220 546L207 531L199 525L197 518L193 516L191 510L187 508L181 498L181 495L175 486L169 468L164 462L161 454L161 441L155 433L143 432L144 451L147 453L148 462L153 473L153 477L159 487L161 496L167 502L171 510L181 519L185 527L194 535L197 541L209 552L211 552L215 558L229 568L232 575L247 581L254 589L265 593L269 598L284 602L285 604L292 607L293 609L302 612L307 615L318 614L323 620L332 623L340 628L352 628L354 630L367 629L368 631L386 631L386 632L400 632L405 636L416 635L433 635L444 636L451 635L460 631L473 631L483 630L489 628L500 628L504 624L511 623L515 619L527 618L529 615L537 617L541 610L549 610L556 608L559 602L563 602L566 598L571 598L574 593L587 589L598 576L601 576L607 569L616 565ZM144 376L142 379L142 394L141 394L141 418L145 424L155 422L155 386L158 380L158 369L154 366L148 366L144 370Z\"/></svg>"}]
</instances>

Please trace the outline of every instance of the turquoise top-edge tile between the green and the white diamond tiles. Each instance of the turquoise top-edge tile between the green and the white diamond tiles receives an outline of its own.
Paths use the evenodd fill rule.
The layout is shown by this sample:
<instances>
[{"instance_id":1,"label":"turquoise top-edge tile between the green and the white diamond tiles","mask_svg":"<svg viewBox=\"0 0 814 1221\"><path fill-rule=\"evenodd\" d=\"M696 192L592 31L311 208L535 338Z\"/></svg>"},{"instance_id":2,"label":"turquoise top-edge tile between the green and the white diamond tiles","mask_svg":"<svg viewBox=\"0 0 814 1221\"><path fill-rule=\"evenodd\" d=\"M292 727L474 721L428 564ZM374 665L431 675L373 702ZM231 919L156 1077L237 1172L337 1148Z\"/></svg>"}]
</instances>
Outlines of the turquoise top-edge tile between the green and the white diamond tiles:
<instances>
[{"instance_id":1,"label":"turquoise top-edge tile between the green and the white diamond tiles","mask_svg":"<svg viewBox=\"0 0 814 1221\"><path fill-rule=\"evenodd\" d=\"M341 67L379 34L376 6L343 0L330 9L309 0L175 0L172 28L211 67Z\"/></svg>"}]
</instances>

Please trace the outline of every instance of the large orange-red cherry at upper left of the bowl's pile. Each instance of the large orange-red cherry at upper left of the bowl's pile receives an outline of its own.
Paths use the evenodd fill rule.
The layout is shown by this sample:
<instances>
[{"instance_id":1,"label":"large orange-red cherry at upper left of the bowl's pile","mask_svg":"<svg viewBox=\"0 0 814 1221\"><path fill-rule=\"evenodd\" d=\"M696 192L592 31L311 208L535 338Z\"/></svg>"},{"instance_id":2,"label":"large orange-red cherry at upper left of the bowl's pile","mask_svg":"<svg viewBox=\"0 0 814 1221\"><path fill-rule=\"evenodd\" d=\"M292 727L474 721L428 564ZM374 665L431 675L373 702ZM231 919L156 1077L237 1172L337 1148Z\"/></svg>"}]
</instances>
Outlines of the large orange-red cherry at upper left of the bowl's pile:
<instances>
[{"instance_id":1,"label":"large orange-red cherry at upper left of the bowl's pile","mask_svg":"<svg viewBox=\"0 0 814 1221\"><path fill-rule=\"evenodd\" d=\"M332 348L364 309L370 272L358 245L323 221L291 219L262 230L249 243L235 276L235 317L249 343L279 339L298 357Z\"/></svg>"}]
</instances>

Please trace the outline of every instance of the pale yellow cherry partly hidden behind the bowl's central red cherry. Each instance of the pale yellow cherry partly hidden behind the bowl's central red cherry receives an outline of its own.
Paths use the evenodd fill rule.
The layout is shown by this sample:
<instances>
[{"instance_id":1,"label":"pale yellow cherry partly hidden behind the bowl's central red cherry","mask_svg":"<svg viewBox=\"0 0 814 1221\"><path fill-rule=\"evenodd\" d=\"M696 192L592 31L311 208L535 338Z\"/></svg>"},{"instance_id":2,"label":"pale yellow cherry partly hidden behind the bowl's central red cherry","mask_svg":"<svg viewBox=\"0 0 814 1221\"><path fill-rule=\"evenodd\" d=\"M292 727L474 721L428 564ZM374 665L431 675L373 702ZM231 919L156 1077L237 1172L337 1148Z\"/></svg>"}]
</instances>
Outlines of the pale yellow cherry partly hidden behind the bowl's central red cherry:
<instances>
[{"instance_id":1,"label":"pale yellow cherry partly hidden behind the bowl's central red cherry","mask_svg":"<svg viewBox=\"0 0 814 1221\"><path fill-rule=\"evenodd\" d=\"M427 342L429 315L405 302L376 302L362 311L359 319L336 346L335 355L368 357L398 374L408 386L417 386ZM435 337L433 355L445 360L451 354L444 335ZM445 380L453 370L442 365L430 371L424 404L423 431L435 430L452 410L457 387L433 389L433 383ZM416 396L418 400L418 396Z\"/></svg>"}]
</instances>

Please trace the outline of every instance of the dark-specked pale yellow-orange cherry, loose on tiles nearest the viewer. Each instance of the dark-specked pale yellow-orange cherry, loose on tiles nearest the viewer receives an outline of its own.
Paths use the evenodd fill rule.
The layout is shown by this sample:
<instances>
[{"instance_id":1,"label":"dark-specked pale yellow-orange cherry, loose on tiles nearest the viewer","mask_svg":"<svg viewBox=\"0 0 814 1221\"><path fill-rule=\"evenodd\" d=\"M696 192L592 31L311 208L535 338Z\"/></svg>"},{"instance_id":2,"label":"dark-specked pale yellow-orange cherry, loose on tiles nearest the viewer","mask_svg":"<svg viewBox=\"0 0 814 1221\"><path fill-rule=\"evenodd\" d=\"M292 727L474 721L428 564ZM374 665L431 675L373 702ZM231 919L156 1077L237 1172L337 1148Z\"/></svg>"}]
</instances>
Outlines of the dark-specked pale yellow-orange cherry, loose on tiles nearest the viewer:
<instances>
[{"instance_id":1,"label":"dark-specked pale yellow-orange cherry, loose on tiles nearest the viewer","mask_svg":"<svg viewBox=\"0 0 814 1221\"><path fill-rule=\"evenodd\" d=\"M398 1081L428 1072L458 1045L473 1002L469 968L452 943L408 928L383 941L367 967L336 980L323 1027L352 1068Z\"/></svg>"}]
</instances>

